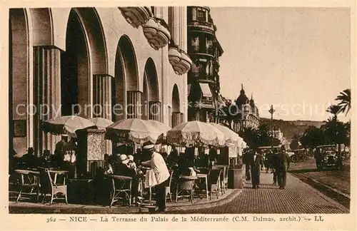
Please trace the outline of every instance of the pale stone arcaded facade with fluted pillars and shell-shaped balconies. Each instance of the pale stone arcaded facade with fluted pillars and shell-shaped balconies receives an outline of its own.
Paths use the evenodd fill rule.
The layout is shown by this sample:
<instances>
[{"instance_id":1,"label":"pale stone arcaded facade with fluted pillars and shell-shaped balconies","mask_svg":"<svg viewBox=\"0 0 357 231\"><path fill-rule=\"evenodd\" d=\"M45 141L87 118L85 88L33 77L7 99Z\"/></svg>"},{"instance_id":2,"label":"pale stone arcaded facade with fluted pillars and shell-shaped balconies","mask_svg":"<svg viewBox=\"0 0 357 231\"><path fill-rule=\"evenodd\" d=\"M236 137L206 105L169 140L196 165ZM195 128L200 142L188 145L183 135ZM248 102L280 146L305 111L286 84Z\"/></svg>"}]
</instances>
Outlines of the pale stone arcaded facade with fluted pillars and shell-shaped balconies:
<instances>
[{"instance_id":1,"label":"pale stone arcaded facade with fluted pillars and shell-shaped balconies","mask_svg":"<svg viewBox=\"0 0 357 231\"><path fill-rule=\"evenodd\" d=\"M60 137L41 122L58 116L186 121L186 14L183 6L10 9L10 149L53 153Z\"/></svg>"}]
</instances>

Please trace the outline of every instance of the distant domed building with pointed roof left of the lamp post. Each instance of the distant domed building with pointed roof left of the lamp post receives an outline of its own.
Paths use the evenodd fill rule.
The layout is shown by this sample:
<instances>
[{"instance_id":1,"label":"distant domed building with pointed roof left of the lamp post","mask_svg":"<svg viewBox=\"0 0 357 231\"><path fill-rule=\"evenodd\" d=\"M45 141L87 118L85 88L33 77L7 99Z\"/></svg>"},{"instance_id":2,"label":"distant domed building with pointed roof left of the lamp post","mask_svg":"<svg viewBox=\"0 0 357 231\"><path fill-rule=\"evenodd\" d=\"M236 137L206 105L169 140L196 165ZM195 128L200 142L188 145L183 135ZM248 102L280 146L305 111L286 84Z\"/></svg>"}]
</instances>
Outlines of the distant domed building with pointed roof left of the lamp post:
<instances>
[{"instance_id":1,"label":"distant domed building with pointed roof left of the lamp post","mask_svg":"<svg viewBox=\"0 0 357 231\"><path fill-rule=\"evenodd\" d=\"M238 133L244 128L258 128L259 127L259 111L256 103L253 100L253 94L251 99L246 96L243 84L241 86L241 92L236 99L236 118L233 121L233 130Z\"/></svg>"}]
</instances>

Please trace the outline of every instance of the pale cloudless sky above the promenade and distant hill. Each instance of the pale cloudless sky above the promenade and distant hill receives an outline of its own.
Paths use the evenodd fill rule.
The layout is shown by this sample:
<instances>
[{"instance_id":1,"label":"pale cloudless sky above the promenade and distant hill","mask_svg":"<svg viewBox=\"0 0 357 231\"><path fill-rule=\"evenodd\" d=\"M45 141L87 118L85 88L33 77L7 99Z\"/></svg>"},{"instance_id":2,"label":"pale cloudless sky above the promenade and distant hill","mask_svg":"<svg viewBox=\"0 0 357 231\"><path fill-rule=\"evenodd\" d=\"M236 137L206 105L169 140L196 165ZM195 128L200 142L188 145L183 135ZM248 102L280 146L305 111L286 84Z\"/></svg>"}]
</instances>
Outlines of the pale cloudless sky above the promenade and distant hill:
<instances>
[{"instance_id":1,"label":"pale cloudless sky above the promenade and distant hill","mask_svg":"<svg viewBox=\"0 0 357 231\"><path fill-rule=\"evenodd\" d=\"M243 84L261 117L273 104L274 118L326 120L351 88L349 9L211 7L211 16L224 51L221 94L235 100Z\"/></svg>"}]
</instances>

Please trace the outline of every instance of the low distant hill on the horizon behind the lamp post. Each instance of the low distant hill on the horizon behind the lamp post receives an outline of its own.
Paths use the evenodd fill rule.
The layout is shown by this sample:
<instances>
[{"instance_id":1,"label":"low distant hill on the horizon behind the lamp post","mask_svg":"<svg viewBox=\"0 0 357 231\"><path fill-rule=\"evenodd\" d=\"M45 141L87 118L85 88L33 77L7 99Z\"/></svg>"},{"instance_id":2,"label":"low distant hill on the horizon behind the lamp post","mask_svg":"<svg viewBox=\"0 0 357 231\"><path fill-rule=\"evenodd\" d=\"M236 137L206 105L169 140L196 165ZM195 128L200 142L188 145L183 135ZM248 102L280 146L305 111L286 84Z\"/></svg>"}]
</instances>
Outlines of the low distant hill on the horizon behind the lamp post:
<instances>
[{"instance_id":1,"label":"low distant hill on the horizon behind the lamp post","mask_svg":"<svg viewBox=\"0 0 357 231\"><path fill-rule=\"evenodd\" d=\"M261 118L261 124L271 125L271 119ZM315 126L320 128L323 125L322 121L311 121L311 120L294 120L294 121L285 121L285 120L273 120L273 126L275 128L280 128L283 135L287 140L291 141L293 135L299 134L302 135L303 132L308 128L308 126Z\"/></svg>"}]
</instances>

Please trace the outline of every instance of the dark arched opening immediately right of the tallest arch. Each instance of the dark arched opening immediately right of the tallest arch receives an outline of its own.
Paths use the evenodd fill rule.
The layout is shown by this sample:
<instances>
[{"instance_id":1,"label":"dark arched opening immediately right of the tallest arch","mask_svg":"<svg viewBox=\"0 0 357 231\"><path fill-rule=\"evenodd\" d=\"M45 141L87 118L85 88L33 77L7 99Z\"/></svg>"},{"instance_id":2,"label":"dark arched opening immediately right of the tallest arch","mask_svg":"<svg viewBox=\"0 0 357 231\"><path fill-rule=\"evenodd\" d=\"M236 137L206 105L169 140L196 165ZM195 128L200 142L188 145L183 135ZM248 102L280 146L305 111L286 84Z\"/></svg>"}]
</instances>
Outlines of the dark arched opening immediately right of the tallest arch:
<instances>
[{"instance_id":1,"label":"dark arched opening immediately right of the tallest arch","mask_svg":"<svg viewBox=\"0 0 357 231\"><path fill-rule=\"evenodd\" d=\"M115 78L112 81L114 121L137 117L138 111L128 104L140 101L138 68L134 47L128 36L121 36L116 48ZM129 112L129 113L127 113Z\"/></svg>"}]
</instances>

